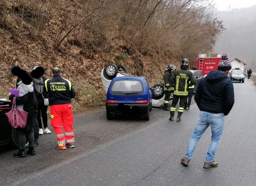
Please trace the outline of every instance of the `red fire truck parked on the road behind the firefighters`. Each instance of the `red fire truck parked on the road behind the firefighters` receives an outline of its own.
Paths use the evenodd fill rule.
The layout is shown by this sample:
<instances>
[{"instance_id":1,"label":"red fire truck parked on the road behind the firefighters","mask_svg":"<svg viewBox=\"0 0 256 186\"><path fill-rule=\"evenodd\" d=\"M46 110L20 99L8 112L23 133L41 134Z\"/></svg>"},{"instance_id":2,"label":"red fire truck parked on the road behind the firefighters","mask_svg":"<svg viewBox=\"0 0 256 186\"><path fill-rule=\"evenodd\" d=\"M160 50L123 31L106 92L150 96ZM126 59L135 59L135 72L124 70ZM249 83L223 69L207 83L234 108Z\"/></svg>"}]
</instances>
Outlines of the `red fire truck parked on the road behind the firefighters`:
<instances>
[{"instance_id":1,"label":"red fire truck parked on the road behind the firefighters","mask_svg":"<svg viewBox=\"0 0 256 186\"><path fill-rule=\"evenodd\" d=\"M197 60L192 61L193 69L201 70L202 75L208 74L209 71L216 70L221 60L221 55L212 53L210 56L206 53L198 55Z\"/></svg>"}]
</instances>

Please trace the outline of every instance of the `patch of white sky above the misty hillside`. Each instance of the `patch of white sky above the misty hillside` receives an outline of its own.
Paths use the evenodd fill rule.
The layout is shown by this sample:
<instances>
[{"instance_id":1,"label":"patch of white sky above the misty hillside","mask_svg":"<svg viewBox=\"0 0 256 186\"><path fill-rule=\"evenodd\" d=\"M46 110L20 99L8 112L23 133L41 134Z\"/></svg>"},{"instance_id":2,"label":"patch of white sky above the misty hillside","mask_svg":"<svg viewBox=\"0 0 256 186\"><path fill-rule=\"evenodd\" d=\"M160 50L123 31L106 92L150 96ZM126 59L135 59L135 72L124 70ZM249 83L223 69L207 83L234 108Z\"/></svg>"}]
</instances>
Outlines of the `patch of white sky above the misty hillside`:
<instances>
[{"instance_id":1,"label":"patch of white sky above the misty hillside","mask_svg":"<svg viewBox=\"0 0 256 186\"><path fill-rule=\"evenodd\" d=\"M256 0L213 0L216 2L218 11L230 10L231 8L244 8L256 4ZM230 6L230 7L229 7Z\"/></svg>"}]
</instances>

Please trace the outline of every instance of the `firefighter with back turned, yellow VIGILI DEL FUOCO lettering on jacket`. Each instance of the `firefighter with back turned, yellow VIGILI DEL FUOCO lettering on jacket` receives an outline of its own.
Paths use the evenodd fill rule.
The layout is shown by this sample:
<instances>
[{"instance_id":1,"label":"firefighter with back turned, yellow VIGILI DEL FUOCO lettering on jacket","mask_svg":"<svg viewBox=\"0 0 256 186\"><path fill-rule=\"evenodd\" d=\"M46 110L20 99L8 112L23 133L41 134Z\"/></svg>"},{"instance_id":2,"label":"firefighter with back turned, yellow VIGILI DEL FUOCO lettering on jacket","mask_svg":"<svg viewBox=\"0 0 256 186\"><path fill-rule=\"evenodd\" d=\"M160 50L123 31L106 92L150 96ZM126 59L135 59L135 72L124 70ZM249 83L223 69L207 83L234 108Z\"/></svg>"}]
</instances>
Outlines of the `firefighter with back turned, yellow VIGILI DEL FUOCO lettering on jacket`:
<instances>
[{"instance_id":1,"label":"firefighter with back turned, yellow VIGILI DEL FUOCO lettering on jacket","mask_svg":"<svg viewBox=\"0 0 256 186\"><path fill-rule=\"evenodd\" d=\"M180 99L180 106L178 109L177 122L181 121L181 115L184 111L185 102L188 96L188 87L196 84L196 78L191 71L188 70L189 61L184 58L181 61L180 69L176 70L171 77L171 84L173 84L173 101L170 109L169 120L174 120L174 113L176 104ZM190 83L189 83L190 82Z\"/></svg>"}]
</instances>

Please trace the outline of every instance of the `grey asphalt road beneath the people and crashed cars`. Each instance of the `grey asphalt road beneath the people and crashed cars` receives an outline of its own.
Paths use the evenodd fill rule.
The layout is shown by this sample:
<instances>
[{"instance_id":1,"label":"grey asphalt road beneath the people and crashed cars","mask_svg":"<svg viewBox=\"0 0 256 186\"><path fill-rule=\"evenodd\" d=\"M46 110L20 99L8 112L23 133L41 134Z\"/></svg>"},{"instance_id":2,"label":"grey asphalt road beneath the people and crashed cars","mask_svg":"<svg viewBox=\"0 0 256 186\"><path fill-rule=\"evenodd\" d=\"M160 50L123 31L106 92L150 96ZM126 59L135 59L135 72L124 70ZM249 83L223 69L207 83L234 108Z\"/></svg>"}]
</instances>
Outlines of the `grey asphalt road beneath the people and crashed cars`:
<instances>
[{"instance_id":1,"label":"grey asphalt road beneath the people and crashed cars","mask_svg":"<svg viewBox=\"0 0 256 186\"><path fill-rule=\"evenodd\" d=\"M247 79L233 84L235 104L225 117L217 168L203 168L209 129L189 166L180 164L199 114L193 100L181 122L169 121L160 108L150 121L108 121L104 109L75 115L76 146L66 150L54 149L54 133L40 136L34 156L15 158L16 149L4 146L0 185L255 185L256 87Z\"/></svg>"}]
</instances>

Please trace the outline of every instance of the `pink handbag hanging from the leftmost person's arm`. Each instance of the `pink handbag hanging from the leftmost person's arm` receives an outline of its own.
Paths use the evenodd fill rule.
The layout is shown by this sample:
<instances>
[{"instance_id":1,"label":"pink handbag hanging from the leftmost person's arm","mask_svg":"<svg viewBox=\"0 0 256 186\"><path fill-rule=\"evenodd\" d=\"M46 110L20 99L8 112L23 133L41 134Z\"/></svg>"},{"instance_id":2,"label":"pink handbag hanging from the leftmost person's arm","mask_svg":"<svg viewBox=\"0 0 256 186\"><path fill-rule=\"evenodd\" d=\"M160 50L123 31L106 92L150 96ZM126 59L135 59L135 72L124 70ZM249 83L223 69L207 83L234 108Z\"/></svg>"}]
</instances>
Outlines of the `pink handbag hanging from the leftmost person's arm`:
<instances>
[{"instance_id":1,"label":"pink handbag hanging from the leftmost person's arm","mask_svg":"<svg viewBox=\"0 0 256 186\"><path fill-rule=\"evenodd\" d=\"M12 109L6 113L8 121L13 128L25 128L28 112L16 107L16 97L13 99Z\"/></svg>"}]
</instances>

